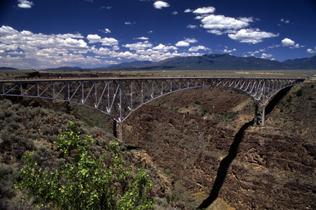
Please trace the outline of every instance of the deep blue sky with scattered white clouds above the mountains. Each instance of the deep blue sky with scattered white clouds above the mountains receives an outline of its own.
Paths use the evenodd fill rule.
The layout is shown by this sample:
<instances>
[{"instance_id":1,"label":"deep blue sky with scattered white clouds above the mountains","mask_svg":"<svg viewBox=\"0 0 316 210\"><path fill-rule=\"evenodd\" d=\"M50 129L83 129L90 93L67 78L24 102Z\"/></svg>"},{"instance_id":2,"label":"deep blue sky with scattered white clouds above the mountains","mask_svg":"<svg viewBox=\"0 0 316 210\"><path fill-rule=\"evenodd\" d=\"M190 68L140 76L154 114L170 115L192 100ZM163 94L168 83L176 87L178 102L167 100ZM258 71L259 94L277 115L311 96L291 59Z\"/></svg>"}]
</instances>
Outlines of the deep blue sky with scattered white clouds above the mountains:
<instances>
[{"instance_id":1,"label":"deep blue sky with scattered white clouds above the mountains","mask_svg":"<svg viewBox=\"0 0 316 210\"><path fill-rule=\"evenodd\" d=\"M0 66L98 67L229 53L316 55L315 0L4 0Z\"/></svg>"}]
</instances>

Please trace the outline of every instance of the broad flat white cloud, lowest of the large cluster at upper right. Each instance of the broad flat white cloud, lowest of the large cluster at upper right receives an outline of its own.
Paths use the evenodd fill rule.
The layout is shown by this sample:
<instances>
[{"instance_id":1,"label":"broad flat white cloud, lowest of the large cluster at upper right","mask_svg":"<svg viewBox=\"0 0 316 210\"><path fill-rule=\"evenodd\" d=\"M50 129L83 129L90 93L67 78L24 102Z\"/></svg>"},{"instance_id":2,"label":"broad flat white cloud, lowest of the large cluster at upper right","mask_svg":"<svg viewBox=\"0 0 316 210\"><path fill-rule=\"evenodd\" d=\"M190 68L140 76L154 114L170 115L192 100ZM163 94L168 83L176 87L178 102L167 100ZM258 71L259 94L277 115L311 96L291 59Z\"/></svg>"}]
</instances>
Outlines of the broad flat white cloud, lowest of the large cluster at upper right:
<instances>
[{"instance_id":1,"label":"broad flat white cloud, lowest of the large cluster at upper right","mask_svg":"<svg viewBox=\"0 0 316 210\"><path fill-rule=\"evenodd\" d=\"M272 34L270 32L260 31L259 29L240 29L236 34L228 34L228 37L237 40L241 43L260 43L263 38L272 38L279 36L279 34Z\"/></svg>"}]
</instances>

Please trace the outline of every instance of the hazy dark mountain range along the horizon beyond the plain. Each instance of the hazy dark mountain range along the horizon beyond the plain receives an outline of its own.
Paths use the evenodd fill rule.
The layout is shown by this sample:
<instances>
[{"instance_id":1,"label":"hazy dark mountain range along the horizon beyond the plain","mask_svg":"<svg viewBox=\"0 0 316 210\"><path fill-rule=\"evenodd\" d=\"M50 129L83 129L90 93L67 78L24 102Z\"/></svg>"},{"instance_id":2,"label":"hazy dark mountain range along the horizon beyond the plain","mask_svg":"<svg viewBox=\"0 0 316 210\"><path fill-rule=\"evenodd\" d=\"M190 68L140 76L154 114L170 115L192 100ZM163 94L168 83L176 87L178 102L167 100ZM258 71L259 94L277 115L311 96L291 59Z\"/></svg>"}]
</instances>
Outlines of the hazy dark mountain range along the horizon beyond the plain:
<instances>
[{"instance_id":1,"label":"hazy dark mountain range along the horizon beyond the plain","mask_svg":"<svg viewBox=\"0 0 316 210\"><path fill-rule=\"evenodd\" d=\"M0 67L0 69L9 67ZM287 59L284 62L262 59L258 57L237 57L229 54L211 54L189 57L171 57L159 62L133 61L122 62L96 69L62 66L58 71L114 71L114 70L316 70L316 55L297 59Z\"/></svg>"}]
</instances>

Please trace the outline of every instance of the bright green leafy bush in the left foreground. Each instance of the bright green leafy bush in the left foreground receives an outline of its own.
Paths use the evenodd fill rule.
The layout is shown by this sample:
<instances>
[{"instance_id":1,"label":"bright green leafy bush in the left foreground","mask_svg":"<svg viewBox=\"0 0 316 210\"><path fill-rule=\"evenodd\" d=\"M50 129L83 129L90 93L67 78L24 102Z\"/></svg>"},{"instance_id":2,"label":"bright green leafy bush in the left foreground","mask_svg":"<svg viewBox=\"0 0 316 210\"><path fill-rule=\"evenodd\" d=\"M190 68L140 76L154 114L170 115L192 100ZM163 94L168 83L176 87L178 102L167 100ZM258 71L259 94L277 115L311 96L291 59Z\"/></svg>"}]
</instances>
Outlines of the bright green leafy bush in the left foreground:
<instances>
[{"instance_id":1,"label":"bright green leafy bush in the left foreground","mask_svg":"<svg viewBox=\"0 0 316 210\"><path fill-rule=\"evenodd\" d=\"M133 179L119 144L110 142L107 152L97 158L88 151L92 137L81 139L76 122L68 126L70 130L55 142L65 164L43 170L32 160L33 153L27 153L15 188L26 189L35 204L53 209L152 209L152 182L143 169Z\"/></svg>"}]
</instances>

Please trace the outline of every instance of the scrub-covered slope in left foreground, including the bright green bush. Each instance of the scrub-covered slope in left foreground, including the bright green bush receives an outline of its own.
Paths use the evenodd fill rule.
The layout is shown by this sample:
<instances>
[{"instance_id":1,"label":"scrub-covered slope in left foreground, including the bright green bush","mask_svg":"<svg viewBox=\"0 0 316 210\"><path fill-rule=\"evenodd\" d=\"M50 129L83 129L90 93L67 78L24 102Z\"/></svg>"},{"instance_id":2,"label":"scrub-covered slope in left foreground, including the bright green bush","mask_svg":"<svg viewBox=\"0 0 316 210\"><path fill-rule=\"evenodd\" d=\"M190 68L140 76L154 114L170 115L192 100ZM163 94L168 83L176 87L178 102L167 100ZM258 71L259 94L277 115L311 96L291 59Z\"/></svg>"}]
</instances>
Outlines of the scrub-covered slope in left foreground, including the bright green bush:
<instances>
[{"instance_id":1,"label":"scrub-covered slope in left foreground, including the bright green bush","mask_svg":"<svg viewBox=\"0 0 316 210\"><path fill-rule=\"evenodd\" d=\"M152 209L152 182L112 134L61 111L0 107L1 209Z\"/></svg>"}]
</instances>

